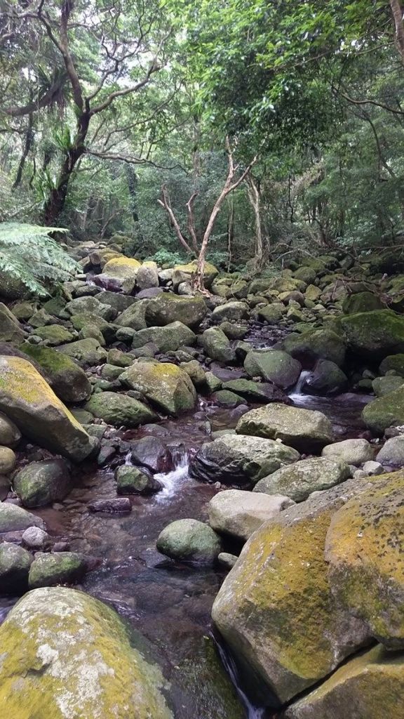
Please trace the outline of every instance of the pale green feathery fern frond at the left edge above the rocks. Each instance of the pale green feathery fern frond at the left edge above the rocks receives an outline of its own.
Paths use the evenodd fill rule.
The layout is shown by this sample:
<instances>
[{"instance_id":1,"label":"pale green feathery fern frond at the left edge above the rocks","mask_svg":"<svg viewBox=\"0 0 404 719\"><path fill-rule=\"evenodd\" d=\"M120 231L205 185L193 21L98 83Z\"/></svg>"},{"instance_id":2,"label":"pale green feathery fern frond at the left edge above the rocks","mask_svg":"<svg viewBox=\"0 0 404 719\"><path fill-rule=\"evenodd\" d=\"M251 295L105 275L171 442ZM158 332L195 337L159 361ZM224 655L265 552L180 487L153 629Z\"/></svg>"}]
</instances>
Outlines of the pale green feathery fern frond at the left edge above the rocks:
<instances>
[{"instance_id":1,"label":"pale green feathery fern frond at the left edge above the rocks","mask_svg":"<svg viewBox=\"0 0 404 719\"><path fill-rule=\"evenodd\" d=\"M63 247L49 237L51 232L67 230L0 222L0 272L42 297L49 294L52 285L70 280L81 270Z\"/></svg>"}]
</instances>

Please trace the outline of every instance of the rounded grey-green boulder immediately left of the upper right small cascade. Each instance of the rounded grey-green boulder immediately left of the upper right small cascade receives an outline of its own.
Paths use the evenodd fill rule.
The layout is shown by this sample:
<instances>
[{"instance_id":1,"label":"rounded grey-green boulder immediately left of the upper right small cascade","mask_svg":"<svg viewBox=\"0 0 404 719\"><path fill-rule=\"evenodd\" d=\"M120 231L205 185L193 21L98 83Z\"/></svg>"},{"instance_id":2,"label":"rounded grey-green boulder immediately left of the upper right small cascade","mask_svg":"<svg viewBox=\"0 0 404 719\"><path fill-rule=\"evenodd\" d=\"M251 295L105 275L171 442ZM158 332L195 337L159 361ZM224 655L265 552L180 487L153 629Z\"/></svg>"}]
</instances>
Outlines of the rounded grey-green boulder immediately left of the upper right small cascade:
<instances>
[{"instance_id":1,"label":"rounded grey-green boulder immediately left of the upper right small cascade","mask_svg":"<svg viewBox=\"0 0 404 719\"><path fill-rule=\"evenodd\" d=\"M277 349L254 349L244 360L244 370L249 377L262 377L277 387L287 389L298 381L301 365L287 352Z\"/></svg>"}]
</instances>

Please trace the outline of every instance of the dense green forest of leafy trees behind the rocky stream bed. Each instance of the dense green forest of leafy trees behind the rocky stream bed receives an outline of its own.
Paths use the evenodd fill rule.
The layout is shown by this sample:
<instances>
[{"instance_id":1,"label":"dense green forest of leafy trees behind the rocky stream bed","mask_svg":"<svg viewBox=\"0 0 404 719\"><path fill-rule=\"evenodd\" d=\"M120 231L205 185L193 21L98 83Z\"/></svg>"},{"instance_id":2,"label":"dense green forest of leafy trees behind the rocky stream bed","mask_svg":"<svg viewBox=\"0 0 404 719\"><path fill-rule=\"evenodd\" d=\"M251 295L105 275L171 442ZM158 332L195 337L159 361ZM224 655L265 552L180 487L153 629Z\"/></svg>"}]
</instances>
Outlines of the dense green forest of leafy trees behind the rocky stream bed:
<instances>
[{"instance_id":1,"label":"dense green forest of leafy trees behind the rocky stream bed","mask_svg":"<svg viewBox=\"0 0 404 719\"><path fill-rule=\"evenodd\" d=\"M220 267L401 246L403 60L395 0L0 0L0 221L177 262L231 162Z\"/></svg>"}]
</instances>

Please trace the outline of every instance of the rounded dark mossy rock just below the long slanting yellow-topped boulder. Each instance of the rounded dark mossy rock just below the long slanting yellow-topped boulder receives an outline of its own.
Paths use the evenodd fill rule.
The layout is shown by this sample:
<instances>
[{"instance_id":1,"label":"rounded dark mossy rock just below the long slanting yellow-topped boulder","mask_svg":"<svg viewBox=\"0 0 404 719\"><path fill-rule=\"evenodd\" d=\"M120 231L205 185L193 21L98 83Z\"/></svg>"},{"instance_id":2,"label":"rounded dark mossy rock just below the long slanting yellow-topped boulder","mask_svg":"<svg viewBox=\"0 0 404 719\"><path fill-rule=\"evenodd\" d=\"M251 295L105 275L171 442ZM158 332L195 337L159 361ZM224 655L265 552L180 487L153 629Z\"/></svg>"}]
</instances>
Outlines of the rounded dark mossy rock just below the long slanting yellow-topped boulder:
<instances>
[{"instance_id":1,"label":"rounded dark mossy rock just below the long slanting yellow-topped boulder","mask_svg":"<svg viewBox=\"0 0 404 719\"><path fill-rule=\"evenodd\" d=\"M42 507L63 500L70 490L70 472L63 459L30 462L13 479L24 507Z\"/></svg>"}]
</instances>

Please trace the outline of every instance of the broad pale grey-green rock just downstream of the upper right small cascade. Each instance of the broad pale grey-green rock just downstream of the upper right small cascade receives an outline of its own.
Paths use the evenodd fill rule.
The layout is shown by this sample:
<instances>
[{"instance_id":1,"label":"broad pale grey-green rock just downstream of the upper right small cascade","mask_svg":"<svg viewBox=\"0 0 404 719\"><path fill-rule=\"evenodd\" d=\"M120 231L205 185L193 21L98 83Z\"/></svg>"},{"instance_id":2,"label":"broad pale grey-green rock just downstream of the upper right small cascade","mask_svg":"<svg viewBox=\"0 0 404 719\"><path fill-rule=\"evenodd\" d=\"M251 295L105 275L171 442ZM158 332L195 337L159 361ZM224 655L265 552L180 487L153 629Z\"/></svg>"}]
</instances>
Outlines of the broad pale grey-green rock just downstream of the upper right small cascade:
<instances>
[{"instance_id":1,"label":"broad pale grey-green rock just downstream of the upper right small cascade","mask_svg":"<svg viewBox=\"0 0 404 719\"><path fill-rule=\"evenodd\" d=\"M236 431L280 439L300 452L321 449L333 439L331 422L322 412L278 403L247 412L239 419Z\"/></svg>"}]
</instances>

